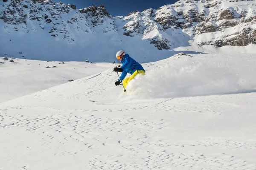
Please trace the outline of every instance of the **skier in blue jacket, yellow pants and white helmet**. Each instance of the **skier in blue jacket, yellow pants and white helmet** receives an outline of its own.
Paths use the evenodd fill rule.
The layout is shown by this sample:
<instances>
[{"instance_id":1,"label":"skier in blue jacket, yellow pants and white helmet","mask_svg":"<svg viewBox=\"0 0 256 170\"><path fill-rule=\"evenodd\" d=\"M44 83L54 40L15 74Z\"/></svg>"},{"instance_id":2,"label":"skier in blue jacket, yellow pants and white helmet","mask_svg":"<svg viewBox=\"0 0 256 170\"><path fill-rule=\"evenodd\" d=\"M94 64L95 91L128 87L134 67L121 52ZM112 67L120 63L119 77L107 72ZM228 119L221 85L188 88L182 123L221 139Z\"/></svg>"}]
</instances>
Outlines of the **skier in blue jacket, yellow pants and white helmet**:
<instances>
[{"instance_id":1,"label":"skier in blue jacket, yellow pants and white helmet","mask_svg":"<svg viewBox=\"0 0 256 170\"><path fill-rule=\"evenodd\" d=\"M145 70L138 62L136 62L133 58L129 56L129 54L125 54L125 51L118 51L116 53L116 58L119 60L119 62L122 62L122 67L114 68L113 71L115 72L122 72L122 75L120 76L120 79L115 82L115 85L124 85L124 88L128 85L128 83L134 79L135 76L138 74L145 74ZM128 77L125 79L126 74L131 74L131 77Z\"/></svg>"}]
</instances>

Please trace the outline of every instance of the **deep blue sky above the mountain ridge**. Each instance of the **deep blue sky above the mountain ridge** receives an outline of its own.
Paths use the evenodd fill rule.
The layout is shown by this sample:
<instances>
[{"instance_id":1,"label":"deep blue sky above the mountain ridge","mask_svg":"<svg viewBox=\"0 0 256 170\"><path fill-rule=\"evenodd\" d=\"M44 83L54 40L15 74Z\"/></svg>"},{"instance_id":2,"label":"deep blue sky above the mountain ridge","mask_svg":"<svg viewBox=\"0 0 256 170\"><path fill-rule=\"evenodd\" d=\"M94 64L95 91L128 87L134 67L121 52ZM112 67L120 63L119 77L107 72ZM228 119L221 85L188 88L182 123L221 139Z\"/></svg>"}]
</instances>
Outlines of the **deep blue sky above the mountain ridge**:
<instances>
[{"instance_id":1,"label":"deep blue sky above the mountain ridge","mask_svg":"<svg viewBox=\"0 0 256 170\"><path fill-rule=\"evenodd\" d=\"M58 0L55 0L58 2ZM122 15L126 16L131 11L143 11L145 9L153 8L158 9L167 4L173 4L177 0L61 0L65 4L74 4L77 9L85 8L88 6L104 5L107 12L113 17Z\"/></svg>"}]
</instances>

